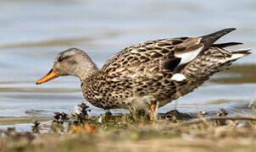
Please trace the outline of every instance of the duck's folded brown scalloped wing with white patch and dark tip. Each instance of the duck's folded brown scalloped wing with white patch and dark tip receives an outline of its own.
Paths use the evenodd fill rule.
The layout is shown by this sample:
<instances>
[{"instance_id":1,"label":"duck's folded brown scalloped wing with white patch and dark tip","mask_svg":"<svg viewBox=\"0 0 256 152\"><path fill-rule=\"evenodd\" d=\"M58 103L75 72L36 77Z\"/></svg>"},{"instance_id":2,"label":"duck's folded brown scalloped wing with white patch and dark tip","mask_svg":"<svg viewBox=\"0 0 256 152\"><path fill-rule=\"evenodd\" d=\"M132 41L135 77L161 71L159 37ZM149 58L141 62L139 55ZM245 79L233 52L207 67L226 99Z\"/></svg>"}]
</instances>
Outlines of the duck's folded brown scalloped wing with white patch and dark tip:
<instances>
[{"instance_id":1,"label":"duck's folded brown scalloped wing with white patch and dark tip","mask_svg":"<svg viewBox=\"0 0 256 152\"><path fill-rule=\"evenodd\" d=\"M114 74L116 77L154 77L154 73L177 73L200 53L213 46L221 36L232 30L236 29L220 30L200 37L179 37L138 43L110 57L103 66L102 73Z\"/></svg>"}]
</instances>

